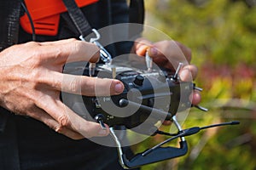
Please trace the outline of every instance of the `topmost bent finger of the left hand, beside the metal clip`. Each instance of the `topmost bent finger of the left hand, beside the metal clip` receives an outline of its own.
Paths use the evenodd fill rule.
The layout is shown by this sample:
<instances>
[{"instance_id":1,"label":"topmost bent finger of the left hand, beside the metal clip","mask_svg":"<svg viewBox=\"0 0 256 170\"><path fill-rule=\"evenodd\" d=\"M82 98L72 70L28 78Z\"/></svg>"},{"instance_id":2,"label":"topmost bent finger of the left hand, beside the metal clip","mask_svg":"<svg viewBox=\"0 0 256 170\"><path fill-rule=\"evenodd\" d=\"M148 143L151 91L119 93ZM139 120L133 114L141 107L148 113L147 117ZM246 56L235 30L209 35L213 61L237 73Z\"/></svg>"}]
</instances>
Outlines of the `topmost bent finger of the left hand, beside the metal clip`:
<instances>
[{"instance_id":1,"label":"topmost bent finger of the left hand, beside the metal clip","mask_svg":"<svg viewBox=\"0 0 256 170\"><path fill-rule=\"evenodd\" d=\"M99 59L99 48L95 44L74 39L40 42L37 50L38 56L56 64L75 61L97 62Z\"/></svg>"}]
</instances>

